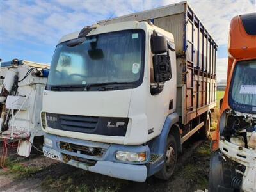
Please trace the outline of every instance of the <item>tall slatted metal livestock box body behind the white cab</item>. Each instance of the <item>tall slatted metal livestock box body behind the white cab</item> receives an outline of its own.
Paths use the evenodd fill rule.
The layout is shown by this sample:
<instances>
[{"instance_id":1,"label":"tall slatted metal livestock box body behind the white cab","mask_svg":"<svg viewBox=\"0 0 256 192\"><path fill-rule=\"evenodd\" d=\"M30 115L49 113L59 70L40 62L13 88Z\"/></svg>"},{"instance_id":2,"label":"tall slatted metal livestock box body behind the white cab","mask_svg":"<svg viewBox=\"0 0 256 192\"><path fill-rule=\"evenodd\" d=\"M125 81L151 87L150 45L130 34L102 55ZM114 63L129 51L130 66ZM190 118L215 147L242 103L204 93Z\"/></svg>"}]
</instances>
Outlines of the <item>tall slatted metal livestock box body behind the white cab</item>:
<instances>
[{"instance_id":1,"label":"tall slatted metal livestock box body behind the white cab","mask_svg":"<svg viewBox=\"0 0 256 192\"><path fill-rule=\"evenodd\" d=\"M218 45L187 1L99 21L106 25L148 21L174 36L177 55L177 113L186 125L216 106Z\"/></svg>"}]
</instances>

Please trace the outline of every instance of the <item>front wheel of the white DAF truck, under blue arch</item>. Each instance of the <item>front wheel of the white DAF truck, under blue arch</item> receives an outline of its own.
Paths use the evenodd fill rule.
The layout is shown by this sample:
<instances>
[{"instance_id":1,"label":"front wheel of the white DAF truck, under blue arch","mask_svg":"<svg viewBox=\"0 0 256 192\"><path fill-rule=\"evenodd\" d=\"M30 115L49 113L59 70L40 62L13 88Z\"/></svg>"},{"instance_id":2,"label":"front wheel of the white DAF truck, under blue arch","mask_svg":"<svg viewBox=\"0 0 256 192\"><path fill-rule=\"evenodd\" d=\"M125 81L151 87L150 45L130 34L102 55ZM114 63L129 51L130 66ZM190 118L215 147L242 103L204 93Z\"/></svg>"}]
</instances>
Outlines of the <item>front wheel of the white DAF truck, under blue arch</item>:
<instances>
[{"instance_id":1,"label":"front wheel of the white DAF truck, under blue arch","mask_svg":"<svg viewBox=\"0 0 256 192\"><path fill-rule=\"evenodd\" d=\"M165 151L164 167L155 176L159 179L168 180L172 176L177 162L177 144L174 136L168 137Z\"/></svg>"}]
</instances>

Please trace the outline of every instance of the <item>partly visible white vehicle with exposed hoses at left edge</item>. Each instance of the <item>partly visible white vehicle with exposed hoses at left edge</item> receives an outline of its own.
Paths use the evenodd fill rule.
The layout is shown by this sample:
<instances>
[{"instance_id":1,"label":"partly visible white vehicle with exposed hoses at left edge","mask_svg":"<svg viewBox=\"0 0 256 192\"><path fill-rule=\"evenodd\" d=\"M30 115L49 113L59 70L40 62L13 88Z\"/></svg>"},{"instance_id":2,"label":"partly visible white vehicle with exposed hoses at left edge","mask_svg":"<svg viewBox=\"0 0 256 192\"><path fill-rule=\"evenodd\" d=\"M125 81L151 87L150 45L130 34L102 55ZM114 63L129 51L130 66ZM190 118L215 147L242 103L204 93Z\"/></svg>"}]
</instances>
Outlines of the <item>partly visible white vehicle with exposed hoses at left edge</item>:
<instances>
[{"instance_id":1,"label":"partly visible white vehicle with exposed hoses at left edge","mask_svg":"<svg viewBox=\"0 0 256 192\"><path fill-rule=\"evenodd\" d=\"M17 154L28 157L40 124L42 95L49 65L25 60L2 62L0 67L0 138L19 141Z\"/></svg>"}]
</instances>

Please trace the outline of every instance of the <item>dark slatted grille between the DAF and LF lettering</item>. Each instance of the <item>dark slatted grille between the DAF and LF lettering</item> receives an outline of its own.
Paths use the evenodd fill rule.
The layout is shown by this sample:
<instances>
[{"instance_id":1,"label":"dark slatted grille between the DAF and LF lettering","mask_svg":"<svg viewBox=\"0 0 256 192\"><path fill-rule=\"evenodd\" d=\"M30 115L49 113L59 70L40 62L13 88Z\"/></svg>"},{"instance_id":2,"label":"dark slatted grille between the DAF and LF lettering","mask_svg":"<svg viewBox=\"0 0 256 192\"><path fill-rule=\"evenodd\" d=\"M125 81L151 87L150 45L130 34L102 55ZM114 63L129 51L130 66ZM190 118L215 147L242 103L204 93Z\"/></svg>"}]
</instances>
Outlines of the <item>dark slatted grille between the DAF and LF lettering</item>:
<instances>
[{"instance_id":1,"label":"dark slatted grille between the DAF and LF lettering","mask_svg":"<svg viewBox=\"0 0 256 192\"><path fill-rule=\"evenodd\" d=\"M99 117L60 115L60 124L65 131L91 132L96 128Z\"/></svg>"}]
</instances>

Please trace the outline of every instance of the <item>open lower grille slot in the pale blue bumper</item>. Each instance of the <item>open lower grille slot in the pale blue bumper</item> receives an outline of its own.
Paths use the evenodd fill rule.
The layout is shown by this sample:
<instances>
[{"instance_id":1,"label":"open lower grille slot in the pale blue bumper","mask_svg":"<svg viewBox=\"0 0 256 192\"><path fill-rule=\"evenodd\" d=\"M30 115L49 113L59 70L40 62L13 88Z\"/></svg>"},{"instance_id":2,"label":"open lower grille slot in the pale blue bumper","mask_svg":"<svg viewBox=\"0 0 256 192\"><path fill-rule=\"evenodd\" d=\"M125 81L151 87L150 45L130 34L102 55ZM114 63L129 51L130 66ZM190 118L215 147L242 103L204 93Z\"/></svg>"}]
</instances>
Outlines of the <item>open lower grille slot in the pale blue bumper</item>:
<instances>
[{"instance_id":1,"label":"open lower grille slot in the pale blue bumper","mask_svg":"<svg viewBox=\"0 0 256 192\"><path fill-rule=\"evenodd\" d=\"M62 141L60 142L60 148L62 150L67 150L70 152L75 152L75 153L84 154L88 156L97 156L97 157L102 157L105 152L105 150L100 147L89 148L88 146L76 145L73 143L65 143Z\"/></svg>"}]
</instances>

